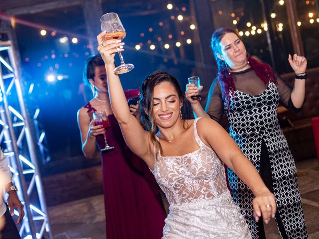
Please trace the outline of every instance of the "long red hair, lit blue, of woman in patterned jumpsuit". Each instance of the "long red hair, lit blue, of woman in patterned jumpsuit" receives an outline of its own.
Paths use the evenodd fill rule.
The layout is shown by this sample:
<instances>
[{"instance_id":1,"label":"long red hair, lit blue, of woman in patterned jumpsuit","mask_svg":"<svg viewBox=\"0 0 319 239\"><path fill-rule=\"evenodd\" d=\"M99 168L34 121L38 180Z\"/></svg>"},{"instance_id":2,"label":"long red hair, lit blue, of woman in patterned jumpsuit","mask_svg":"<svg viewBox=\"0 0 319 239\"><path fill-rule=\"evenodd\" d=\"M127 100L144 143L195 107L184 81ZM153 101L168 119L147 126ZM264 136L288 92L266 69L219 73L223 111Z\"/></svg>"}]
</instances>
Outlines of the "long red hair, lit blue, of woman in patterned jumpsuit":
<instances>
[{"instance_id":1,"label":"long red hair, lit blue, of woman in patterned jumpsuit","mask_svg":"<svg viewBox=\"0 0 319 239\"><path fill-rule=\"evenodd\" d=\"M234 33L238 36L239 39L241 39L236 29L230 27L222 27L217 29L213 33L211 37L211 48L213 50L213 54L218 67L217 78L221 86L223 100L226 102L226 105L228 107L229 93L231 92L231 94L235 96L234 80L236 79L236 77L229 73L229 67L227 63L219 59L217 56L217 54L222 55L219 43L226 33ZM276 75L268 64L257 61L256 59L251 57L250 54L247 54L247 63L250 65L251 68L254 69L256 75L260 79L262 79L262 81L265 83L265 86L267 86L269 82L274 82L275 84L277 84Z\"/></svg>"}]
</instances>

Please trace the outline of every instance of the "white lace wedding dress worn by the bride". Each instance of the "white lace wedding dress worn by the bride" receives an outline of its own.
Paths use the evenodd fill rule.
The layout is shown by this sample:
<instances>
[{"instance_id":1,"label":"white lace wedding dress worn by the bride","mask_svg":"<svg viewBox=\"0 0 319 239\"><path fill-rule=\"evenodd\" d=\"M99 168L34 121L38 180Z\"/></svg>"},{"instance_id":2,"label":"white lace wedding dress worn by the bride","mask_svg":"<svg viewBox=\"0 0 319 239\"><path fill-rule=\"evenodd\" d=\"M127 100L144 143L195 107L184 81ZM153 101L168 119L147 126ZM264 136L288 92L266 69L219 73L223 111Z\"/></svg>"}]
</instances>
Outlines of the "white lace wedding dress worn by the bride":
<instances>
[{"instance_id":1,"label":"white lace wedding dress worn by the bride","mask_svg":"<svg viewBox=\"0 0 319 239\"><path fill-rule=\"evenodd\" d=\"M153 174L170 204L162 239L251 239L227 189L224 167L199 138L199 149L155 159Z\"/></svg>"}]
</instances>

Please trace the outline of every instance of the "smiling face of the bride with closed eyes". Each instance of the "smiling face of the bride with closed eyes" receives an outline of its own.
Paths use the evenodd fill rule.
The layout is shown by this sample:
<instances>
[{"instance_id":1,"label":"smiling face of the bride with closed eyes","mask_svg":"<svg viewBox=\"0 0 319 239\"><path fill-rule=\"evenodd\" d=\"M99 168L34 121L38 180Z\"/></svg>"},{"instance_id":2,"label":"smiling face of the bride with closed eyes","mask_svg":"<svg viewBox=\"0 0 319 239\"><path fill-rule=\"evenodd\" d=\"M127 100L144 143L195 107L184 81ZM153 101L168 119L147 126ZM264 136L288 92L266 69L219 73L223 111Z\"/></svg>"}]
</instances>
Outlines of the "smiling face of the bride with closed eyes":
<instances>
[{"instance_id":1,"label":"smiling face of the bride with closed eyes","mask_svg":"<svg viewBox=\"0 0 319 239\"><path fill-rule=\"evenodd\" d=\"M164 81L154 87L153 116L162 128L173 126L180 119L180 102L175 88Z\"/></svg>"}]
</instances>

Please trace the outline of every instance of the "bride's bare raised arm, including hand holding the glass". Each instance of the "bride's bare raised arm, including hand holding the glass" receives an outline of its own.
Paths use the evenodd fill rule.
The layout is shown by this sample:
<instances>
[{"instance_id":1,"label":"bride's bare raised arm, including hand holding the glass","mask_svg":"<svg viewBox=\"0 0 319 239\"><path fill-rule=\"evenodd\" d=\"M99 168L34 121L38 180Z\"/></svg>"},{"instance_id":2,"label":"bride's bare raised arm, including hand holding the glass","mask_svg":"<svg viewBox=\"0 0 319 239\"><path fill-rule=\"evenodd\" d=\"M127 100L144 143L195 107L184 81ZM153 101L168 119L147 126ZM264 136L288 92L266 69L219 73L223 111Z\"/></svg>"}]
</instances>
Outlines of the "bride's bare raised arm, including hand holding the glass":
<instances>
[{"instance_id":1,"label":"bride's bare raised arm, including hand holding the glass","mask_svg":"<svg viewBox=\"0 0 319 239\"><path fill-rule=\"evenodd\" d=\"M113 114L118 120L124 139L131 150L144 159L150 167L153 167L154 156L150 150L149 132L144 130L140 122L130 113L120 78L114 73L114 56L118 49L119 51L124 50L122 48L124 43L116 39L102 40L104 34L105 32L101 32L97 36L98 50L105 63Z\"/></svg>"}]
</instances>

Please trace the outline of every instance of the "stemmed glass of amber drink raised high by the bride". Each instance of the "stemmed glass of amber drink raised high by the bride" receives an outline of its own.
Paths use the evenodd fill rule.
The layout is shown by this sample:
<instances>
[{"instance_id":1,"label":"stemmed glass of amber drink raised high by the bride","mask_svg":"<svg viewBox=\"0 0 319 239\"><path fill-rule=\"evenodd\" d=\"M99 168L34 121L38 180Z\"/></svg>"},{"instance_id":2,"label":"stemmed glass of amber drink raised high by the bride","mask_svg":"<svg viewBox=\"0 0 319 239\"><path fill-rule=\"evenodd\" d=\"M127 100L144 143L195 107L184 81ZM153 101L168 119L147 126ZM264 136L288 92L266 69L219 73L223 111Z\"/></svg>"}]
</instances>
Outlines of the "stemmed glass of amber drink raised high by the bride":
<instances>
[{"instance_id":1,"label":"stemmed glass of amber drink raised high by the bride","mask_svg":"<svg viewBox=\"0 0 319 239\"><path fill-rule=\"evenodd\" d=\"M125 29L122 22L115 12L109 12L101 16L101 29L106 31L102 40L119 39L123 40L126 36ZM118 53L121 60L121 65L114 69L116 74L123 74L133 70L133 64L125 64L122 53L118 49Z\"/></svg>"}]
</instances>

